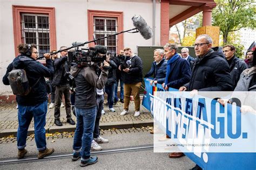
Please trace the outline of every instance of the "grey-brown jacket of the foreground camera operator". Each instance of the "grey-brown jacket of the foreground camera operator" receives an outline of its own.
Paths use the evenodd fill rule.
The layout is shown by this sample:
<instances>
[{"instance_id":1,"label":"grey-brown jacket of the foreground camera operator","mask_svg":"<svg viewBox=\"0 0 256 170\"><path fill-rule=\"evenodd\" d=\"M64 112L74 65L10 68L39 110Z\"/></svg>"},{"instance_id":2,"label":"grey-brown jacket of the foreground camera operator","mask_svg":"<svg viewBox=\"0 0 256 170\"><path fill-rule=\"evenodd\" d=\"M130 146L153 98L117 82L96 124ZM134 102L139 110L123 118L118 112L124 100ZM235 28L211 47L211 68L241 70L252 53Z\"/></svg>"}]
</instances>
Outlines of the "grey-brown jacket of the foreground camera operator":
<instances>
[{"instance_id":1,"label":"grey-brown jacket of the foreground camera operator","mask_svg":"<svg viewBox=\"0 0 256 170\"><path fill-rule=\"evenodd\" d=\"M75 77L76 97L75 107L86 109L96 106L96 88L102 89L107 81L108 70L102 69L98 77L93 67L71 67L71 75Z\"/></svg>"}]
</instances>

